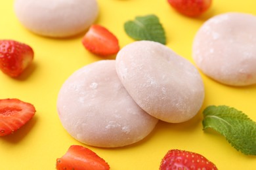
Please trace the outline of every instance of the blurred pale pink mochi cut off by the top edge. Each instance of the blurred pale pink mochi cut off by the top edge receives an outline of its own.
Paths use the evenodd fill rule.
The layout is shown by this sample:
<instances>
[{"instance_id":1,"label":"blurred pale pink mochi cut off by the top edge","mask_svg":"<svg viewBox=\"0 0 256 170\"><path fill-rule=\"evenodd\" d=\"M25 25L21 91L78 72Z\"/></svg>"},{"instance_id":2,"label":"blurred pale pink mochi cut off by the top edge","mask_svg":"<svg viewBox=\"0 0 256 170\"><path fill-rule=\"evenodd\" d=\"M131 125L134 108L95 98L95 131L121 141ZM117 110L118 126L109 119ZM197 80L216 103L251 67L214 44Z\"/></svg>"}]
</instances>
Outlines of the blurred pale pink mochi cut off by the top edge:
<instances>
[{"instance_id":1,"label":"blurred pale pink mochi cut off by the top edge","mask_svg":"<svg viewBox=\"0 0 256 170\"><path fill-rule=\"evenodd\" d=\"M14 12L30 31L47 37L81 33L98 16L96 0L16 0Z\"/></svg>"}]
</instances>

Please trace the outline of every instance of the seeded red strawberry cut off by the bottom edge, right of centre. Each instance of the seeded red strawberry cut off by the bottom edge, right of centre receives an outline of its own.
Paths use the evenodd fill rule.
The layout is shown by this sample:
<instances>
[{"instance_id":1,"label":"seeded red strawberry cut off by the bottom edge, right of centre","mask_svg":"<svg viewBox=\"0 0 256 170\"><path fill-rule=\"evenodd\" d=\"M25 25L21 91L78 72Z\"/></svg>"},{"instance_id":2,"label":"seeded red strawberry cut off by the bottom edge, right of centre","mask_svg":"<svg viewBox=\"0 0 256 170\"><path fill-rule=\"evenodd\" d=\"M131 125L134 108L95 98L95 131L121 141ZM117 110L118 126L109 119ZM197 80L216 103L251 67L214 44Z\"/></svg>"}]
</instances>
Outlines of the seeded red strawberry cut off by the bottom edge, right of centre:
<instances>
[{"instance_id":1,"label":"seeded red strawberry cut off by the bottom edge, right of centre","mask_svg":"<svg viewBox=\"0 0 256 170\"><path fill-rule=\"evenodd\" d=\"M160 170L168 169L217 169L205 157L194 152L184 150L169 150L161 160Z\"/></svg>"}]
</instances>

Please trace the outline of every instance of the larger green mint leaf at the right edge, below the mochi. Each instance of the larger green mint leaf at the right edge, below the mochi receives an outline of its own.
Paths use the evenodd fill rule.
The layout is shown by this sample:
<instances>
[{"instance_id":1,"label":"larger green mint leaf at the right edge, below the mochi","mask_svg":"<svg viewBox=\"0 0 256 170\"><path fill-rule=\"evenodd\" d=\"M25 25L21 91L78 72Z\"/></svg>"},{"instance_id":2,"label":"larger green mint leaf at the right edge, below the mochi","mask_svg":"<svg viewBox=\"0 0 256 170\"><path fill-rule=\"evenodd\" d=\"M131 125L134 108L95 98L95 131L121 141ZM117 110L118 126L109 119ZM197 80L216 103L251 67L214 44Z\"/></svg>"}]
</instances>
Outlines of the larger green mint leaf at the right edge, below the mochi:
<instances>
[{"instance_id":1,"label":"larger green mint leaf at the right edge, below the mochi","mask_svg":"<svg viewBox=\"0 0 256 170\"><path fill-rule=\"evenodd\" d=\"M256 123L240 110L209 106L203 110L203 130L212 128L228 143L246 155L256 155Z\"/></svg>"}]
</instances>

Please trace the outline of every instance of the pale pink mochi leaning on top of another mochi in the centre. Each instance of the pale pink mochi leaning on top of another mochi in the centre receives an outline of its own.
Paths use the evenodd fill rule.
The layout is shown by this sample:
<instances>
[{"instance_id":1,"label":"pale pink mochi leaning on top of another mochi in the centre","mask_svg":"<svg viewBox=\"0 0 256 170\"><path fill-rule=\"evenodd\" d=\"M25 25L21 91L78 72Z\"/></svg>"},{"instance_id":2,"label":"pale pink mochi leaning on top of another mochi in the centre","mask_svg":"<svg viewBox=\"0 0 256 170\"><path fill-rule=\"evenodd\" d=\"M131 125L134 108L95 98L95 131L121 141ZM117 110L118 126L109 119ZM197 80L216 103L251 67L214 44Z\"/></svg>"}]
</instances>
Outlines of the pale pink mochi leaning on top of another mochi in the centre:
<instances>
[{"instance_id":1,"label":"pale pink mochi leaning on top of another mochi in the centre","mask_svg":"<svg viewBox=\"0 0 256 170\"><path fill-rule=\"evenodd\" d=\"M117 54L116 69L135 102L160 120L185 122L202 107L204 87L198 70L163 44L128 44Z\"/></svg>"}]
</instances>

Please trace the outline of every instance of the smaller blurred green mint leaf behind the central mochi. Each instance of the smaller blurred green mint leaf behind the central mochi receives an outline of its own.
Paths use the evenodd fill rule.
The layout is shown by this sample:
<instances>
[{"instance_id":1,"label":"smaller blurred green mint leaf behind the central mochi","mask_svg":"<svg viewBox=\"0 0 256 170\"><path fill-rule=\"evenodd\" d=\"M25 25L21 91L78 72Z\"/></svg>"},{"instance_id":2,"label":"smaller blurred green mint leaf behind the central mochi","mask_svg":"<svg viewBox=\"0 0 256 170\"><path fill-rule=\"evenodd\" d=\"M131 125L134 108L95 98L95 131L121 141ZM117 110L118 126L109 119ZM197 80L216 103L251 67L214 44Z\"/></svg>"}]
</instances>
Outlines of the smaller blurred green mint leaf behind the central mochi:
<instances>
[{"instance_id":1,"label":"smaller blurred green mint leaf behind the central mochi","mask_svg":"<svg viewBox=\"0 0 256 170\"><path fill-rule=\"evenodd\" d=\"M125 32L137 41L148 40L166 44L165 31L154 14L138 16L134 21L125 22Z\"/></svg>"}]
</instances>

